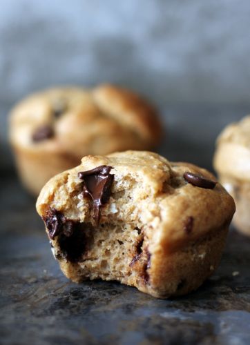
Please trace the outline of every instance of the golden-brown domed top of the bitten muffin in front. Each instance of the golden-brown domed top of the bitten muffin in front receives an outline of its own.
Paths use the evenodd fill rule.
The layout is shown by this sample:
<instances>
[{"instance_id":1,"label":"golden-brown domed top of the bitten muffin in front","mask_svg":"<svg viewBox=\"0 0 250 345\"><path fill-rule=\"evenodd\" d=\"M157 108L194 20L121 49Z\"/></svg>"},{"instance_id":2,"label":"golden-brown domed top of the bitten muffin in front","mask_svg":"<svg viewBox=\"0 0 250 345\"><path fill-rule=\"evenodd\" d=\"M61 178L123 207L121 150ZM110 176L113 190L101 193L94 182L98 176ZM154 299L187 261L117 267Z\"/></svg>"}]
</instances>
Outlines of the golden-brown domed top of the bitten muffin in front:
<instances>
[{"instance_id":1,"label":"golden-brown domed top of the bitten muffin in front","mask_svg":"<svg viewBox=\"0 0 250 345\"><path fill-rule=\"evenodd\" d=\"M76 168L50 179L37 200L39 215L55 208L69 219L93 222L78 173L98 166L111 166L110 174L114 175L101 223L117 213L121 221L136 221L142 227L146 224L152 253L171 252L213 233L229 224L235 211L232 197L210 172L188 163L171 163L153 152L127 151L84 157ZM184 178L185 172L215 183L209 188L195 186Z\"/></svg>"}]
</instances>

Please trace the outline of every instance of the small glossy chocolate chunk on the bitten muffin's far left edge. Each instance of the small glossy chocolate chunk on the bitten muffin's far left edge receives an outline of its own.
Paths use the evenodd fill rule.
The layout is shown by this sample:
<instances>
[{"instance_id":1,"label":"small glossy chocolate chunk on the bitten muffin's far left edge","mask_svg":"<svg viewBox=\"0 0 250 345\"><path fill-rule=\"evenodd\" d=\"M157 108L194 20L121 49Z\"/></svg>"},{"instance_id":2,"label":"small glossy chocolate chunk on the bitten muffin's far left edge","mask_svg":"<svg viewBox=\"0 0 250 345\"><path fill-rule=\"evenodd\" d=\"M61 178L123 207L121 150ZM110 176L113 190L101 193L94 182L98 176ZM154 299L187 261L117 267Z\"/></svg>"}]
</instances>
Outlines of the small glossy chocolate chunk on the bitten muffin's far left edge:
<instances>
[{"instance_id":1,"label":"small glossy chocolate chunk on the bitten muffin's far left edge","mask_svg":"<svg viewBox=\"0 0 250 345\"><path fill-rule=\"evenodd\" d=\"M44 221L50 239L55 239L60 233L64 233L66 237L70 237L73 233L74 221L66 219L66 217L55 208L48 209Z\"/></svg>"}]
</instances>

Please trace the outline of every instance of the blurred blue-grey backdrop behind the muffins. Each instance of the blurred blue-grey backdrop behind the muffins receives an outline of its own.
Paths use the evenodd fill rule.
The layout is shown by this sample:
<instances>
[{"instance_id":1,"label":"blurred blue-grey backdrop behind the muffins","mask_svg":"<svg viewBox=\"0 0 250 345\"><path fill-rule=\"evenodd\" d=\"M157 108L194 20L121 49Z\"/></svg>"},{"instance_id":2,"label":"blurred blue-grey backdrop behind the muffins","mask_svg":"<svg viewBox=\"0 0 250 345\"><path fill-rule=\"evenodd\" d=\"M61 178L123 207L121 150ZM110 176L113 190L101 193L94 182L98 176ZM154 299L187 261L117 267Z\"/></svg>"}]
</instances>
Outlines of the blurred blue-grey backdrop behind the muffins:
<instances>
[{"instance_id":1,"label":"blurred blue-grey backdrop behind the muffins","mask_svg":"<svg viewBox=\"0 0 250 345\"><path fill-rule=\"evenodd\" d=\"M110 81L160 108L162 154L211 168L215 137L250 109L249 18L247 0L1 0L1 167L21 97Z\"/></svg>"}]
</instances>

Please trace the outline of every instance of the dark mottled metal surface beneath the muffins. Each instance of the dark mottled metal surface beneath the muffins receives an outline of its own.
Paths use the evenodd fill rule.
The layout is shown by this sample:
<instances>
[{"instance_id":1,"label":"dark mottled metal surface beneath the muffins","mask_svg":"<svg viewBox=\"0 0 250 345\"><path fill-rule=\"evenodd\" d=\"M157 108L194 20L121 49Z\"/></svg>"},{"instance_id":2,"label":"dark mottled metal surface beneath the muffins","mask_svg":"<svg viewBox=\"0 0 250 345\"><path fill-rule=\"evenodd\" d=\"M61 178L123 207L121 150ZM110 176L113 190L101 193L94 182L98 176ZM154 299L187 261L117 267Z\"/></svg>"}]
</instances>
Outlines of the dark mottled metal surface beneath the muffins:
<instances>
[{"instance_id":1,"label":"dark mottled metal surface beneath the muffins","mask_svg":"<svg viewBox=\"0 0 250 345\"><path fill-rule=\"evenodd\" d=\"M77 285L53 259L34 199L13 176L0 193L1 344L249 344L249 239L231 231L220 268L186 297Z\"/></svg>"}]
</instances>

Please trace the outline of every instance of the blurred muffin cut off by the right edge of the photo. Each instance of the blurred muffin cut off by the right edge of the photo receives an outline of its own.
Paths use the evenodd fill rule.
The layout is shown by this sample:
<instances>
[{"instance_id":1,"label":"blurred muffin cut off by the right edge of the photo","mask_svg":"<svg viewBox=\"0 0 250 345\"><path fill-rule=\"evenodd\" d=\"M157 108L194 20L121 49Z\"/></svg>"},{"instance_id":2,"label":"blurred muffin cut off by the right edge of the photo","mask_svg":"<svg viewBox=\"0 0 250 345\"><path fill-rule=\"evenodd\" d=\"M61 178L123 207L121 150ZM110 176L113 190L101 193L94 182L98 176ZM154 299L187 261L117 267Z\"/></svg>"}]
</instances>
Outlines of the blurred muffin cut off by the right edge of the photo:
<instances>
[{"instance_id":1,"label":"blurred muffin cut off by the right edge of the photo","mask_svg":"<svg viewBox=\"0 0 250 345\"><path fill-rule=\"evenodd\" d=\"M229 124L218 137L214 168L220 182L233 196L233 223L250 236L250 116Z\"/></svg>"}]
</instances>

